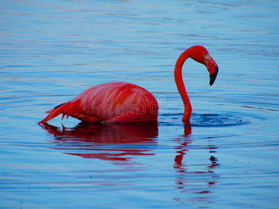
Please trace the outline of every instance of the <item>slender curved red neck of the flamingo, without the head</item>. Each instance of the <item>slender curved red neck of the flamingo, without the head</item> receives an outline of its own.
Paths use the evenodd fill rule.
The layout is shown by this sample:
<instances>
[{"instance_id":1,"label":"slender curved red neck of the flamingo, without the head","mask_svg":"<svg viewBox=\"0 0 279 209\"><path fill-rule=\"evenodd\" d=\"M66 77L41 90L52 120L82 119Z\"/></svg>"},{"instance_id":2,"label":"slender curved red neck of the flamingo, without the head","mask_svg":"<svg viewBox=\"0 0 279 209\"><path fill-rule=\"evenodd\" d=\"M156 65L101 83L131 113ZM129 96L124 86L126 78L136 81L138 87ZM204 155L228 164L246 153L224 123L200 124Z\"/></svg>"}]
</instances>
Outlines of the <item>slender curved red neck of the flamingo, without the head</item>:
<instances>
[{"instance_id":1,"label":"slender curved red neck of the flamingo, without the head","mask_svg":"<svg viewBox=\"0 0 279 209\"><path fill-rule=\"evenodd\" d=\"M188 57L190 57L190 52L188 49L186 49L186 51L179 56L179 59L177 59L174 68L174 80L184 104L184 114L182 121L188 121L192 113L192 106L182 78L182 66Z\"/></svg>"}]
</instances>

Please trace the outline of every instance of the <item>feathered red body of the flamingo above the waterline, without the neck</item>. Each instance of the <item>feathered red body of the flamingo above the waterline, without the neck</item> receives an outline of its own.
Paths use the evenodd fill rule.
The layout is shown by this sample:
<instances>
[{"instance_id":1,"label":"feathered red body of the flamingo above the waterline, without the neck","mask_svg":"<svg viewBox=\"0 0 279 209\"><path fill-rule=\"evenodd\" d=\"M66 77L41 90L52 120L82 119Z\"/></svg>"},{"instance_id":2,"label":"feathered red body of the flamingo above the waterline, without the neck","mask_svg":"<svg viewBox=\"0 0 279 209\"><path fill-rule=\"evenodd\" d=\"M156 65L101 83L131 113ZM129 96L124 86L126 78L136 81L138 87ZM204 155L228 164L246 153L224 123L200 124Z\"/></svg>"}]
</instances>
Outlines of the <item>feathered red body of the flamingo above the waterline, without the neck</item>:
<instances>
[{"instance_id":1,"label":"feathered red body of the flamingo above the waterline, without the neck","mask_svg":"<svg viewBox=\"0 0 279 209\"><path fill-rule=\"evenodd\" d=\"M89 123L147 122L157 121L158 102L140 86L111 82L92 86L47 113L49 115L40 123L46 123L59 114Z\"/></svg>"}]
</instances>

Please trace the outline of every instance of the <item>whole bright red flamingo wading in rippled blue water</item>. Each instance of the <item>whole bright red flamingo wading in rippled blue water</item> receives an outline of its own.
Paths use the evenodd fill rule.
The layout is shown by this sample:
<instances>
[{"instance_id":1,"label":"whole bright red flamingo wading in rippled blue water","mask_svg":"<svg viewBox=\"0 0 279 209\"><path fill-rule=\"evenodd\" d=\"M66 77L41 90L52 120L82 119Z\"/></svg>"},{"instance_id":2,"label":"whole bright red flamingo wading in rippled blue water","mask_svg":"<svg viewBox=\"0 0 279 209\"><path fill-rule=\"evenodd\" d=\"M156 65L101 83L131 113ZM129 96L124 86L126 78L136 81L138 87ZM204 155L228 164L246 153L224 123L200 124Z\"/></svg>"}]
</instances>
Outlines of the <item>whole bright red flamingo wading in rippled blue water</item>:
<instances>
[{"instance_id":1,"label":"whole bright red flamingo wading in rippled blue water","mask_svg":"<svg viewBox=\"0 0 279 209\"><path fill-rule=\"evenodd\" d=\"M184 51L176 61L174 80L184 104L182 121L190 120L192 107L182 78L182 66L188 58L206 65L212 85L218 74L218 65L202 46ZM126 82L110 82L88 88L69 102L47 111L48 115L38 124L46 123L63 114L87 123L130 123L158 121L158 102L146 89Z\"/></svg>"}]
</instances>

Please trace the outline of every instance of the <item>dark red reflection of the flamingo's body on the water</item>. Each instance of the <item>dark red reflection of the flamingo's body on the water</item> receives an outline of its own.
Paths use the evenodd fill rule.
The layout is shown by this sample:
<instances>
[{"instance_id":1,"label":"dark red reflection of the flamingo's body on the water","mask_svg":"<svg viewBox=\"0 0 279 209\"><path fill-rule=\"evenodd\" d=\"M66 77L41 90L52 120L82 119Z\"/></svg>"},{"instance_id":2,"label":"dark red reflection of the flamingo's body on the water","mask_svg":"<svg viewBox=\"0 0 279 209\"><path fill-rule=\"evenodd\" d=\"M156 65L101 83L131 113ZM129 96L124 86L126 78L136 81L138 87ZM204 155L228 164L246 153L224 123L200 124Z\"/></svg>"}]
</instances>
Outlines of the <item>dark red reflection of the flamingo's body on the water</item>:
<instances>
[{"instance_id":1,"label":"dark red reflection of the flamingo's body on the water","mask_svg":"<svg viewBox=\"0 0 279 209\"><path fill-rule=\"evenodd\" d=\"M80 123L62 130L45 123L43 128L54 135L56 143L68 142L59 146L68 150L66 154L110 160L115 164L128 164L136 155L154 155L149 153L149 148L156 144L158 137L157 123Z\"/></svg>"}]
</instances>

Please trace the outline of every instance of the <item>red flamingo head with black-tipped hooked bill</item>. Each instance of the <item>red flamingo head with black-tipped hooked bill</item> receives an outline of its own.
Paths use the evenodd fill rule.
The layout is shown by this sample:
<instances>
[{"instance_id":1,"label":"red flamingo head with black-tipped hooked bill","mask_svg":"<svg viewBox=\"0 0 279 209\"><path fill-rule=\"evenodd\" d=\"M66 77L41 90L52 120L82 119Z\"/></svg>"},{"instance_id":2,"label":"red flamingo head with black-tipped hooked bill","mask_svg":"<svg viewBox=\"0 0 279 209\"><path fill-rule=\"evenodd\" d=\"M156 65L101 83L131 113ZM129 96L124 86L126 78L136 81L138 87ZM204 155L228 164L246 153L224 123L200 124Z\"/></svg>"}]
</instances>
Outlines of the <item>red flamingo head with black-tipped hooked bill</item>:
<instances>
[{"instance_id":1,"label":"red flamingo head with black-tipped hooked bill","mask_svg":"<svg viewBox=\"0 0 279 209\"><path fill-rule=\"evenodd\" d=\"M209 52L207 52L206 48L202 46L194 46L194 47L190 47L189 49L190 49L190 57L193 60L202 63L206 66L210 76L209 85L212 86L218 74L218 65L212 59Z\"/></svg>"}]
</instances>

